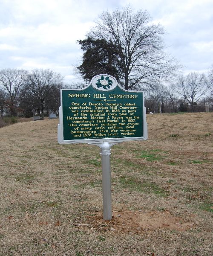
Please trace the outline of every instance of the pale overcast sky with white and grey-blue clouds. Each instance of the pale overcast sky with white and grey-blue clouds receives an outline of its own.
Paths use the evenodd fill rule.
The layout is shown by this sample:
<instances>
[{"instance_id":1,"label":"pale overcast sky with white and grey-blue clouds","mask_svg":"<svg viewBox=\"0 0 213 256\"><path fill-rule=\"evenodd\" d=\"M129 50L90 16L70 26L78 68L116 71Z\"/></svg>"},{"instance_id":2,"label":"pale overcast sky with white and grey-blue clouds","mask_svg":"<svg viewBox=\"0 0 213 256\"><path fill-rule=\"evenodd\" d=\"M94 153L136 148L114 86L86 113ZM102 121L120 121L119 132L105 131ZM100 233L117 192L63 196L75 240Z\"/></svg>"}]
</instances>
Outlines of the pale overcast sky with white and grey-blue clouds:
<instances>
[{"instance_id":1,"label":"pale overcast sky with white and grey-blue clouds","mask_svg":"<svg viewBox=\"0 0 213 256\"><path fill-rule=\"evenodd\" d=\"M0 0L0 70L50 68L76 80L84 39L104 10L147 10L167 32L164 43L183 72L213 64L213 0Z\"/></svg>"}]
</instances>

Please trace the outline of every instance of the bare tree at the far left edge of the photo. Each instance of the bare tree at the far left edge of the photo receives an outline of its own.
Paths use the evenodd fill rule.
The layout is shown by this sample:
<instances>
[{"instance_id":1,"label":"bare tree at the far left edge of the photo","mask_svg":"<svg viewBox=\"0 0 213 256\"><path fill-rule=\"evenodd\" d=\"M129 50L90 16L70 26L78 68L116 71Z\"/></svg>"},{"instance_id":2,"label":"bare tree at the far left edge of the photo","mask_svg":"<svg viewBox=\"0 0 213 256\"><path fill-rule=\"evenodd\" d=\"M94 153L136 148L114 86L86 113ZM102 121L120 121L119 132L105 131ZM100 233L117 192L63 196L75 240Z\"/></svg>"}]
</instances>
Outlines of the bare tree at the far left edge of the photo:
<instances>
[{"instance_id":1,"label":"bare tree at the far left edge of the photo","mask_svg":"<svg viewBox=\"0 0 213 256\"><path fill-rule=\"evenodd\" d=\"M16 115L16 104L18 102L18 92L24 84L26 70L3 69L0 71L0 85L9 93L9 109L11 116Z\"/></svg>"}]
</instances>

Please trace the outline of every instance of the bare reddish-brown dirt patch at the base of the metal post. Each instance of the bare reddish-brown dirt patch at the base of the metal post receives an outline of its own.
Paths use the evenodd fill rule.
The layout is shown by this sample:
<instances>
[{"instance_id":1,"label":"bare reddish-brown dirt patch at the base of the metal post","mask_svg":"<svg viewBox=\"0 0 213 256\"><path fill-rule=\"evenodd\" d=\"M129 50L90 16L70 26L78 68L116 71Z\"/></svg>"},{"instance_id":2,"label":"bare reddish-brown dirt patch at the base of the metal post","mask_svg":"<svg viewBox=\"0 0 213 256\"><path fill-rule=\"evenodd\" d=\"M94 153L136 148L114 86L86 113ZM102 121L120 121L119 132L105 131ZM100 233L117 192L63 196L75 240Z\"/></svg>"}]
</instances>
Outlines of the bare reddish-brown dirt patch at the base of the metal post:
<instances>
[{"instance_id":1,"label":"bare reddish-brown dirt patch at the base of the metal post","mask_svg":"<svg viewBox=\"0 0 213 256\"><path fill-rule=\"evenodd\" d=\"M97 230L111 230L114 232L136 234L156 229L185 231L195 227L193 222L185 222L183 219L171 215L168 211L127 210L123 212L112 212L111 221L104 221L101 212L93 216L87 216L86 218L86 224L75 223L75 225L79 227L89 226L89 228Z\"/></svg>"}]
</instances>

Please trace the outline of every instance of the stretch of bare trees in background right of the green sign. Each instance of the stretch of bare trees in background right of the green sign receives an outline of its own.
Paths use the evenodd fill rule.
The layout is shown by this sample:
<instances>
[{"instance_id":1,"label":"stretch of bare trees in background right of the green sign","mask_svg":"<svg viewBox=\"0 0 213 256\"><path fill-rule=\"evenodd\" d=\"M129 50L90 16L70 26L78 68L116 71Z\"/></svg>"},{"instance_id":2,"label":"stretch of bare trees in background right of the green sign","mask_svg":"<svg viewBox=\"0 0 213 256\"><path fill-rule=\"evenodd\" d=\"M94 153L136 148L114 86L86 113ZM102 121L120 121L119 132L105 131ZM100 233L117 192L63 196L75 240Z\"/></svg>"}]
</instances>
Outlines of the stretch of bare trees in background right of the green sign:
<instances>
[{"instance_id":1,"label":"stretch of bare trees in background right of the green sign","mask_svg":"<svg viewBox=\"0 0 213 256\"><path fill-rule=\"evenodd\" d=\"M158 113L159 104L162 113L213 111L213 73L205 76L191 72L178 76L169 86L156 84L145 97L145 106Z\"/></svg>"}]
</instances>

